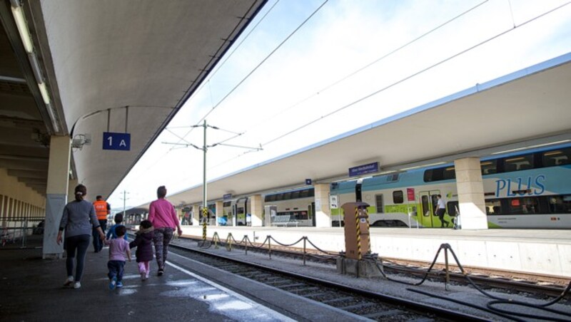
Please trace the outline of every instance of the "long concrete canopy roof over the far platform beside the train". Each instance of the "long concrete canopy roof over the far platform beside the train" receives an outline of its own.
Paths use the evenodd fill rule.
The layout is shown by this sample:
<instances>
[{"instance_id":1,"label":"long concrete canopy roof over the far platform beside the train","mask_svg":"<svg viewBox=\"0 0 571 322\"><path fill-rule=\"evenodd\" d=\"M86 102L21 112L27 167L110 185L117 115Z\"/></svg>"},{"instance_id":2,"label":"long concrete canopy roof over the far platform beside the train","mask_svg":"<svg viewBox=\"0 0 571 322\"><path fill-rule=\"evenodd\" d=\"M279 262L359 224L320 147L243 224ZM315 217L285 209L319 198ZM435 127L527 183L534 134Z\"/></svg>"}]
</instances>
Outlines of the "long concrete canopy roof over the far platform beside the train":
<instances>
[{"instance_id":1,"label":"long concrete canopy roof over the far platform beside the train","mask_svg":"<svg viewBox=\"0 0 571 322\"><path fill-rule=\"evenodd\" d=\"M347 179L348 168L376 161L386 172L571 140L570 88L571 53L211 180L208 200ZM198 204L202 193L168 199Z\"/></svg>"}]
</instances>

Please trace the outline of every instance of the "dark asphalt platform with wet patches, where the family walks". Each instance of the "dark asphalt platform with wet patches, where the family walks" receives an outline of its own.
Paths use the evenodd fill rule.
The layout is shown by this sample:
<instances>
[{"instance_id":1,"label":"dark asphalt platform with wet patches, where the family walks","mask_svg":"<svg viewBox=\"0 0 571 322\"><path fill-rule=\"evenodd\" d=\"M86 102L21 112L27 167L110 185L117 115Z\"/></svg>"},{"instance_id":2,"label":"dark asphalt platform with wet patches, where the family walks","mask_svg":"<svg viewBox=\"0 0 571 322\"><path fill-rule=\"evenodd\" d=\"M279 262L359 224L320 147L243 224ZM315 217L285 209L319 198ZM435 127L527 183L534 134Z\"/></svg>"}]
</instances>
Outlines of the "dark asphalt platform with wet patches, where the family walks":
<instances>
[{"instance_id":1,"label":"dark asphalt platform with wet patches, where the family walks","mask_svg":"<svg viewBox=\"0 0 571 322\"><path fill-rule=\"evenodd\" d=\"M65 259L41 259L40 243L41 235L26 249L0 248L1 321L293 321L173 264L141 281L133 259L123 289L111 291L108 251L96 254L91 245L81 288L63 287Z\"/></svg>"}]
</instances>

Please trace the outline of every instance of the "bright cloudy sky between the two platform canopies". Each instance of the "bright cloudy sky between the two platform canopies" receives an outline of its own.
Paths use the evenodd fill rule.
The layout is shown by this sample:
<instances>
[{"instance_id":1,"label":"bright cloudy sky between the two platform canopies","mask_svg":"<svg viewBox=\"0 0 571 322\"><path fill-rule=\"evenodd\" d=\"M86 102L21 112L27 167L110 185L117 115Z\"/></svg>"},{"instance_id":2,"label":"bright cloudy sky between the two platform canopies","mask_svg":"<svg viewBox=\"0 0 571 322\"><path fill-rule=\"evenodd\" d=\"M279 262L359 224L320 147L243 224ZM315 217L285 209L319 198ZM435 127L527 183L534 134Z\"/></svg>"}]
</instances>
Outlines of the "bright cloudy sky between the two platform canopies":
<instances>
[{"instance_id":1,"label":"bright cloudy sky between the two platform canopies","mask_svg":"<svg viewBox=\"0 0 571 322\"><path fill-rule=\"evenodd\" d=\"M209 181L569 52L569 1L268 0L108 202L201 185L205 119Z\"/></svg>"}]
</instances>

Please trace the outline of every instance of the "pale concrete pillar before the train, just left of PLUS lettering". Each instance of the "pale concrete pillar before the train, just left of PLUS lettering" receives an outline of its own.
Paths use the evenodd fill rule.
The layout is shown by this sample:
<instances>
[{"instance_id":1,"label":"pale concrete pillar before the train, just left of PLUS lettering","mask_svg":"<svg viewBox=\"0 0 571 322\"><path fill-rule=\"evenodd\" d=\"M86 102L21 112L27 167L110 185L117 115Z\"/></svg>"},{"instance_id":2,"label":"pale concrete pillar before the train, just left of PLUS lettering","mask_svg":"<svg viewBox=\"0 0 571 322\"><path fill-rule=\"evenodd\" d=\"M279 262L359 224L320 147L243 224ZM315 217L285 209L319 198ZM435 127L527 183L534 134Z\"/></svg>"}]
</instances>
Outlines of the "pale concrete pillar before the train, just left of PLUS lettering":
<instances>
[{"instance_id":1,"label":"pale concrete pillar before the train, just left of PLUS lettering","mask_svg":"<svg viewBox=\"0 0 571 322\"><path fill-rule=\"evenodd\" d=\"M455 160L454 167L462 229L487 229L480 159L467 157Z\"/></svg>"}]
</instances>

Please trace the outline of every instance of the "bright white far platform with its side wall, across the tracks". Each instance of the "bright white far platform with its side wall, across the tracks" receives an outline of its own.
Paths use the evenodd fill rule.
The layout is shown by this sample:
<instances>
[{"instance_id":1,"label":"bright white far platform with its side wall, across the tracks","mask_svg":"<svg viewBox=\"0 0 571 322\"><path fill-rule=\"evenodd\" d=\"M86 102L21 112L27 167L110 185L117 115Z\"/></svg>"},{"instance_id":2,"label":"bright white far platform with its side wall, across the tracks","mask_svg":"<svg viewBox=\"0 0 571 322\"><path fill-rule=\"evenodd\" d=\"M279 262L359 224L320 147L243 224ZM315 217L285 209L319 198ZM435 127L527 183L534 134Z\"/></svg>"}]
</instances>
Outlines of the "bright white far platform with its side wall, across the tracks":
<instances>
[{"instance_id":1,"label":"bright white far platform with its side wall, across the tracks","mask_svg":"<svg viewBox=\"0 0 571 322\"><path fill-rule=\"evenodd\" d=\"M236 240L248 235L263 242L268 235L283 244L302 237L326 251L343 251L343 227L223 227L207 226L207 236L218 233ZM201 238L202 227L183 226L183 234ZM571 277L571 232L566 229L429 229L378 228L370 234L371 251L381 257L433 261L441 244L450 244L463 266L517 271L525 274ZM303 244L297 246L302 247ZM312 248L308 244L308 248ZM443 261L440 261L442 263Z\"/></svg>"}]
</instances>

